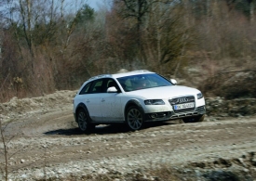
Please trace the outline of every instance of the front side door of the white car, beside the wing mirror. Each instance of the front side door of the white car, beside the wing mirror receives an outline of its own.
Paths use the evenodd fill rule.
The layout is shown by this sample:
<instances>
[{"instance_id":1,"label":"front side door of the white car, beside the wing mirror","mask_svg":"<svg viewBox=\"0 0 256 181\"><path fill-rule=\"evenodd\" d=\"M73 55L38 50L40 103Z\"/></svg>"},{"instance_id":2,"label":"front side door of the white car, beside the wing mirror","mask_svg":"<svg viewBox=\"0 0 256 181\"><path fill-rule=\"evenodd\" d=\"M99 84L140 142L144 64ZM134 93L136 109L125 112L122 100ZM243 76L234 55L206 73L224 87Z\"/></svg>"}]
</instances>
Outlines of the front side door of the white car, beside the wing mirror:
<instances>
[{"instance_id":1,"label":"front side door of the white car, beside the wing mirror","mask_svg":"<svg viewBox=\"0 0 256 181\"><path fill-rule=\"evenodd\" d=\"M115 86L117 93L107 93L107 88ZM105 122L123 121L123 108L121 105L121 97L123 93L120 91L118 84L114 79L105 79L103 86L104 93L101 94L101 119Z\"/></svg>"}]
</instances>

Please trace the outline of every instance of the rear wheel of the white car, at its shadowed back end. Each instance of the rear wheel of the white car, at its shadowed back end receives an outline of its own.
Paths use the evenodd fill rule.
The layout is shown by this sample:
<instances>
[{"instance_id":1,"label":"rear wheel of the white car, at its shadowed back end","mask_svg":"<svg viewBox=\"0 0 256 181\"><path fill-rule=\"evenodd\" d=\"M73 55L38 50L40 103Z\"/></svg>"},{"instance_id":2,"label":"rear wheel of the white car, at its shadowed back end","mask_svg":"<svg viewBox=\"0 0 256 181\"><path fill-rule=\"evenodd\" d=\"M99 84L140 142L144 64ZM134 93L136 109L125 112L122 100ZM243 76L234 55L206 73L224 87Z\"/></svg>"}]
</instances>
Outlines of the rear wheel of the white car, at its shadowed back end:
<instances>
[{"instance_id":1,"label":"rear wheel of the white car, at its shadowed back end","mask_svg":"<svg viewBox=\"0 0 256 181\"><path fill-rule=\"evenodd\" d=\"M81 109L77 112L77 123L78 127L82 132L91 131L95 125L89 123L88 111Z\"/></svg>"}]
</instances>

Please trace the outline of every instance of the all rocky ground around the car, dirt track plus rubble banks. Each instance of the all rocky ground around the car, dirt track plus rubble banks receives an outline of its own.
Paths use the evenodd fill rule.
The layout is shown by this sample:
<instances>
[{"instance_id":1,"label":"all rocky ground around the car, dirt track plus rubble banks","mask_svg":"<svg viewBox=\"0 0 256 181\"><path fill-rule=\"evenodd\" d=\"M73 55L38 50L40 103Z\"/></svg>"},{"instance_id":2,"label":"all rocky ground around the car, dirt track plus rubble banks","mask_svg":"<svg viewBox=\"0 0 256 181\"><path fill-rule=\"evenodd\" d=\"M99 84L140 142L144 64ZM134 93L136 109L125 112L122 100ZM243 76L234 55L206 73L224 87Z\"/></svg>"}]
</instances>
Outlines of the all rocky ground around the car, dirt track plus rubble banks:
<instances>
[{"instance_id":1,"label":"all rocky ground around the car, dirt track plus rubble banks","mask_svg":"<svg viewBox=\"0 0 256 181\"><path fill-rule=\"evenodd\" d=\"M256 180L255 99L207 98L203 123L100 125L85 135L75 91L0 104L9 180ZM5 157L0 141L4 180Z\"/></svg>"}]
</instances>

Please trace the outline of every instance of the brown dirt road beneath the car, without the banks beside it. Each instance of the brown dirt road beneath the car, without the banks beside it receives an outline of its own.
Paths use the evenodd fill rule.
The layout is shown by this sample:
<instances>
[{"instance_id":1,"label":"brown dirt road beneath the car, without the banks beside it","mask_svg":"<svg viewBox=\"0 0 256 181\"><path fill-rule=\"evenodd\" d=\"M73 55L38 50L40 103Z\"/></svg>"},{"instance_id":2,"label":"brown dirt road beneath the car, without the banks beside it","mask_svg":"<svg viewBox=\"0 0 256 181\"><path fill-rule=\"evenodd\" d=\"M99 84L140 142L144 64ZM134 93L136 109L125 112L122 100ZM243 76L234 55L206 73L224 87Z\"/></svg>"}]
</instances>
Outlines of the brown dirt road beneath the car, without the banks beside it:
<instances>
[{"instance_id":1,"label":"brown dirt road beneath the car, without the banks beside it","mask_svg":"<svg viewBox=\"0 0 256 181\"><path fill-rule=\"evenodd\" d=\"M213 171L239 172L240 180L255 180L256 118L209 120L151 123L137 132L127 132L122 124L100 125L85 135L74 123L71 105L21 116L4 131L9 177L67 180L68 175L111 174L123 180L128 173L146 176L147 170L168 165L182 172L184 180L210 180L214 175L206 173ZM0 159L3 165L3 154Z\"/></svg>"}]
</instances>

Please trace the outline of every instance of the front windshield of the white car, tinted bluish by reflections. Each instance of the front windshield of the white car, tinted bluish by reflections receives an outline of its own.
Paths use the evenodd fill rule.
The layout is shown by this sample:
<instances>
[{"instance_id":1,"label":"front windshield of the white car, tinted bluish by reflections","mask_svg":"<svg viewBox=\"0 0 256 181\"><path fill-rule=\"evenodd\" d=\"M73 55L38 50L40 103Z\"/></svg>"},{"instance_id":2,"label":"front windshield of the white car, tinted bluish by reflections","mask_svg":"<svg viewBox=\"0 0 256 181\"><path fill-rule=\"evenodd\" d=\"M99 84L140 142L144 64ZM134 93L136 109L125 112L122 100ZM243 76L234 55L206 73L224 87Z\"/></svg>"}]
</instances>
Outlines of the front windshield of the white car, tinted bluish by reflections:
<instances>
[{"instance_id":1,"label":"front windshield of the white car, tinted bluish by reflections","mask_svg":"<svg viewBox=\"0 0 256 181\"><path fill-rule=\"evenodd\" d=\"M119 77L117 78L117 81L122 85L126 92L158 86L173 85L167 79L156 73Z\"/></svg>"}]
</instances>

